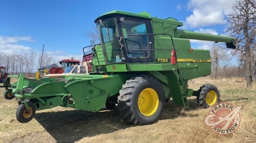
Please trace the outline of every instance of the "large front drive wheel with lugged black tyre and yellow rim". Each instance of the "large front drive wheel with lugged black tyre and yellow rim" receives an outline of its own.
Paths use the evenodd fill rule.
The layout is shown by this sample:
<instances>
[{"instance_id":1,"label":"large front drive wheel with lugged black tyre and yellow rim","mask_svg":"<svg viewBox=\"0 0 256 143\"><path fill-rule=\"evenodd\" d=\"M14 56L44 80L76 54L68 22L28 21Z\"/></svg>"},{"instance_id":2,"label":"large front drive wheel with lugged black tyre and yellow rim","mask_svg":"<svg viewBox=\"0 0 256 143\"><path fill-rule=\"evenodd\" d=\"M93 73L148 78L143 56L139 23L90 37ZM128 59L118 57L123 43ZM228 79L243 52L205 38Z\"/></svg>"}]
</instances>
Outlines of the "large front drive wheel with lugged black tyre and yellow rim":
<instances>
[{"instance_id":1,"label":"large front drive wheel with lugged black tyre and yellow rim","mask_svg":"<svg viewBox=\"0 0 256 143\"><path fill-rule=\"evenodd\" d=\"M132 125L156 123L164 109L164 90L148 75L131 78L119 91L118 108L123 122Z\"/></svg>"}]
</instances>

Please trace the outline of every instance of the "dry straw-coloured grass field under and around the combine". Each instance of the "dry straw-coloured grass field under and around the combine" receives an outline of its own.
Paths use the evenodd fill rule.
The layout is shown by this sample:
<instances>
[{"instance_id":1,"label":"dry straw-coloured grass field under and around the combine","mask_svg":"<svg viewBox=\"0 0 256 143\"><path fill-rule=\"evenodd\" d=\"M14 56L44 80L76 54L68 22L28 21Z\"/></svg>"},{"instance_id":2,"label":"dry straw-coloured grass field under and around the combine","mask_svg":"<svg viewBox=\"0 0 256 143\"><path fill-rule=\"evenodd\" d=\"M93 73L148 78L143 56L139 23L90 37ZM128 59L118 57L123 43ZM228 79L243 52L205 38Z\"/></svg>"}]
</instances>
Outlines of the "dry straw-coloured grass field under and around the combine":
<instances>
[{"instance_id":1,"label":"dry straw-coloured grass field under and around the combine","mask_svg":"<svg viewBox=\"0 0 256 143\"><path fill-rule=\"evenodd\" d=\"M0 142L256 142L256 89L246 89L242 79L189 81L198 90L204 83L215 84L221 102L242 106L241 124L230 135L219 135L204 124L210 109L199 108L195 97L189 109L168 101L161 119L153 125L132 126L122 122L118 109L87 112L56 107L36 111L26 124L15 118L17 101L3 97L0 89Z\"/></svg>"}]
</instances>

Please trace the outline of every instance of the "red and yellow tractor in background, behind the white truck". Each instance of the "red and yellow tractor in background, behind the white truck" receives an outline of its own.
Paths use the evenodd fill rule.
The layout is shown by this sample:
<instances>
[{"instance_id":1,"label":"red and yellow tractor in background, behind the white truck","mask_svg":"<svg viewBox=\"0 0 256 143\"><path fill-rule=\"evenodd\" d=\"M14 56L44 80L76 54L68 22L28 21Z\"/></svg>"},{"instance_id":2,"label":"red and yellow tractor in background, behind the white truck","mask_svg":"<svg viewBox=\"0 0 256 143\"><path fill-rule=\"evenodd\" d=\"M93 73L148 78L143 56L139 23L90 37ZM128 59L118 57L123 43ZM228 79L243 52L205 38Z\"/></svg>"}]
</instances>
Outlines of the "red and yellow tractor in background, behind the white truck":
<instances>
[{"instance_id":1,"label":"red and yellow tractor in background, behind the white truck","mask_svg":"<svg viewBox=\"0 0 256 143\"><path fill-rule=\"evenodd\" d=\"M52 64L50 66L45 66L40 69L37 69L36 72L36 79L44 77L44 75L47 74L61 74L63 73L69 66L71 65L80 65L80 61L78 60L61 60L59 61L59 64L61 67L59 67L57 64Z\"/></svg>"}]
</instances>

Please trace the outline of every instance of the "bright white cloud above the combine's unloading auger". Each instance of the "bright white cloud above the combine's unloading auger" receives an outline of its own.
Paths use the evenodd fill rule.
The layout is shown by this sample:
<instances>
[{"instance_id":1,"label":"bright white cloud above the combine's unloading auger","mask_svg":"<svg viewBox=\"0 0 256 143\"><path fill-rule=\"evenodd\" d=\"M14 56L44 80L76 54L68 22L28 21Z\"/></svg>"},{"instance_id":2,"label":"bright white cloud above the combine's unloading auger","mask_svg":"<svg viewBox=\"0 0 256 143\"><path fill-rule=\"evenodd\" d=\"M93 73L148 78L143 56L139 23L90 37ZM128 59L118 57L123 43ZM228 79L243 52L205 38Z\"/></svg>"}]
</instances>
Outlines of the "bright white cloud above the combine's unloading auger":
<instances>
[{"instance_id":1,"label":"bright white cloud above the combine's unloading auger","mask_svg":"<svg viewBox=\"0 0 256 143\"><path fill-rule=\"evenodd\" d=\"M193 14L186 17L190 27L202 27L215 24L225 24L225 15L232 11L233 0L190 0L187 8Z\"/></svg>"}]
</instances>

